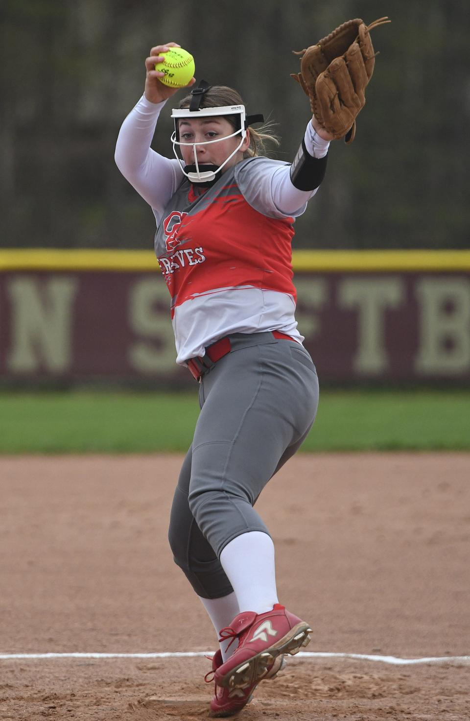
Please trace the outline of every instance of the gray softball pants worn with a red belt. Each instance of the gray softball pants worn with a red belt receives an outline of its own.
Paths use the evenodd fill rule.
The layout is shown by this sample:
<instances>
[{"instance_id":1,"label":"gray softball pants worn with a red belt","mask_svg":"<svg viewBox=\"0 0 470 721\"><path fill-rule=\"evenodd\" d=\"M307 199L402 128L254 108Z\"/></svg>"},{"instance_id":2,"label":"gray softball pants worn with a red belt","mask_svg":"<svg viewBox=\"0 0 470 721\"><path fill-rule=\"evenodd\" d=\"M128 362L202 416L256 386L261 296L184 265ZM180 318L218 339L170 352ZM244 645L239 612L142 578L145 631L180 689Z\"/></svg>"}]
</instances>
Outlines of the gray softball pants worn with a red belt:
<instances>
[{"instance_id":1,"label":"gray softball pants worn with a red belt","mask_svg":"<svg viewBox=\"0 0 470 721\"><path fill-rule=\"evenodd\" d=\"M169 544L202 598L233 591L219 561L248 531L269 534L253 505L314 423L318 379L309 353L271 332L230 336L203 376L200 415L174 493Z\"/></svg>"}]
</instances>

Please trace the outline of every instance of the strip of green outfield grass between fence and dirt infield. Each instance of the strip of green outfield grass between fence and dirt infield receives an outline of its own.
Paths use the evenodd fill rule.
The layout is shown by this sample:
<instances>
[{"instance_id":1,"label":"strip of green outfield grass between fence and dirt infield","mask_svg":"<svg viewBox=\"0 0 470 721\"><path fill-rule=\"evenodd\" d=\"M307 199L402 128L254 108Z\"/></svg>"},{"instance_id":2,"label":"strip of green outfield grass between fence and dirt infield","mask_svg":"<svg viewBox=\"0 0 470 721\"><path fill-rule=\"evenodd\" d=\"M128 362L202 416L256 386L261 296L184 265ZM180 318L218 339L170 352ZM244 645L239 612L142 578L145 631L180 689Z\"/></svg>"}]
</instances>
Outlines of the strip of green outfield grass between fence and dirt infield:
<instances>
[{"instance_id":1,"label":"strip of green outfield grass between fence and dirt infield","mask_svg":"<svg viewBox=\"0 0 470 721\"><path fill-rule=\"evenodd\" d=\"M470 392L322 392L302 450L470 450L469 408ZM186 451L198 412L192 393L1 393L0 454Z\"/></svg>"}]
</instances>

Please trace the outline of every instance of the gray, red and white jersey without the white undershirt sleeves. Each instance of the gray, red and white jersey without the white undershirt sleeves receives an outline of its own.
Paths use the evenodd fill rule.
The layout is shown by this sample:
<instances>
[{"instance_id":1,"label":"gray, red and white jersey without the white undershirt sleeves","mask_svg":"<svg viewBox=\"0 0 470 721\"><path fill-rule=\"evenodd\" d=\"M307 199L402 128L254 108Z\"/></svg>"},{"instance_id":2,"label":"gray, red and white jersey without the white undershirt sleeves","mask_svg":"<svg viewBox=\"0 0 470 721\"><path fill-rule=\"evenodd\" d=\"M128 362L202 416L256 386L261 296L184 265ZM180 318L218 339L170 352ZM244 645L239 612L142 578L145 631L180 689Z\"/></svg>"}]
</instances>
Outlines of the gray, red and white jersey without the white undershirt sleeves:
<instances>
[{"instance_id":1,"label":"gray, red and white jersey without the white undershirt sleeves","mask_svg":"<svg viewBox=\"0 0 470 721\"><path fill-rule=\"evenodd\" d=\"M280 330L302 342L291 243L293 216L306 203L286 216L263 190L285 165L249 158L206 190L183 180L165 207L155 252L172 298L177 363L229 333Z\"/></svg>"}]
</instances>

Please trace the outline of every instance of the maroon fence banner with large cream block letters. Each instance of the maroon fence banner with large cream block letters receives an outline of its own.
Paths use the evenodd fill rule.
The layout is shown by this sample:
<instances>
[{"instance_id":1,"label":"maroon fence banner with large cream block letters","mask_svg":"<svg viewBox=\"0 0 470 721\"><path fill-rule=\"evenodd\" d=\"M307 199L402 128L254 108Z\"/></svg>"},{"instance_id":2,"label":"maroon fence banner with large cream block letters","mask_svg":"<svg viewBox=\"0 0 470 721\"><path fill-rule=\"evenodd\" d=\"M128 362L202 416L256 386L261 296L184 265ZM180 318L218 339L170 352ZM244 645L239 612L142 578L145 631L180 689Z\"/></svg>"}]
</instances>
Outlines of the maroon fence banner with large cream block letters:
<instances>
[{"instance_id":1,"label":"maroon fence banner with large cream block letters","mask_svg":"<svg viewBox=\"0 0 470 721\"><path fill-rule=\"evenodd\" d=\"M468 381L470 273L297 273L322 381ZM194 384L175 364L161 275L0 274L0 378Z\"/></svg>"}]
</instances>

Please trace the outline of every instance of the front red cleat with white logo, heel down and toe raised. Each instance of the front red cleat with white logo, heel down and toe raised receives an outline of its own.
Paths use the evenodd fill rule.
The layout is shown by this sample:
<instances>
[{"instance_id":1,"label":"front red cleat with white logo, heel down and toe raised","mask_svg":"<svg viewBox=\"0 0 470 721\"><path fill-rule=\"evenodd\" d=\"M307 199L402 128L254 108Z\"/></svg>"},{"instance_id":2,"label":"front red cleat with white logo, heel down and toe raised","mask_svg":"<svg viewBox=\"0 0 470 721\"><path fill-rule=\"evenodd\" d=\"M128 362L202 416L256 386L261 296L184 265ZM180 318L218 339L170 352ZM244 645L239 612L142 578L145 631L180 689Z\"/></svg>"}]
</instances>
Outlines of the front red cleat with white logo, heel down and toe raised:
<instances>
[{"instance_id":1,"label":"front red cleat with white logo, heel down and toe raised","mask_svg":"<svg viewBox=\"0 0 470 721\"><path fill-rule=\"evenodd\" d=\"M310 633L309 624L286 611L280 603L275 603L272 611L265 614L244 611L235 616L231 627L221 630L219 640L238 638L239 645L225 663L214 669L216 686L229 690L254 689L260 681L280 671L276 662L284 653L295 655L306 646Z\"/></svg>"}]
</instances>

